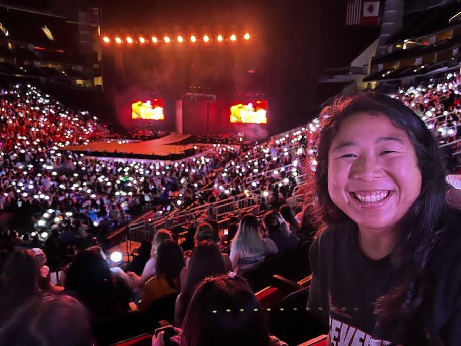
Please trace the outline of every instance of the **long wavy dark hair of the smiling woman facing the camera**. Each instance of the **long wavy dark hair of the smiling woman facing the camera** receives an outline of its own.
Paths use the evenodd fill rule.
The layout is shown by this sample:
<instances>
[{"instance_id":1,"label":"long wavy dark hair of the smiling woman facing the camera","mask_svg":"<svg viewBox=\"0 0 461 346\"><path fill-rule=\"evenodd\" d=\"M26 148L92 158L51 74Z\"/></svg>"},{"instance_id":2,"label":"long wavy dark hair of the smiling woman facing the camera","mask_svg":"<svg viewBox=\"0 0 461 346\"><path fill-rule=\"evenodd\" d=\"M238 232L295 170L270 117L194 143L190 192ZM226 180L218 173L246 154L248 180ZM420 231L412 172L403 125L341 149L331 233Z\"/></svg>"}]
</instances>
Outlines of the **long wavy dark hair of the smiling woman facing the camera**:
<instances>
[{"instance_id":1,"label":"long wavy dark hair of the smiling woman facing the camera","mask_svg":"<svg viewBox=\"0 0 461 346\"><path fill-rule=\"evenodd\" d=\"M447 207L444 162L437 143L423 120L400 101L380 94L340 96L325 107L320 116L320 128L310 138L317 165L311 170L313 157L307 158L310 172L306 195L306 212L320 232L344 222L352 222L330 198L328 193L328 150L342 121L355 113L384 114L393 125L404 130L414 146L421 171L421 193L401 220L396 246L391 254L393 278L391 289L375 304L379 325L393 325L403 344L424 344L416 341L421 330L422 303L430 282L425 275L437 250L448 234L442 227L442 215ZM425 335L421 340L425 340ZM420 342L420 343L418 343Z\"/></svg>"}]
</instances>

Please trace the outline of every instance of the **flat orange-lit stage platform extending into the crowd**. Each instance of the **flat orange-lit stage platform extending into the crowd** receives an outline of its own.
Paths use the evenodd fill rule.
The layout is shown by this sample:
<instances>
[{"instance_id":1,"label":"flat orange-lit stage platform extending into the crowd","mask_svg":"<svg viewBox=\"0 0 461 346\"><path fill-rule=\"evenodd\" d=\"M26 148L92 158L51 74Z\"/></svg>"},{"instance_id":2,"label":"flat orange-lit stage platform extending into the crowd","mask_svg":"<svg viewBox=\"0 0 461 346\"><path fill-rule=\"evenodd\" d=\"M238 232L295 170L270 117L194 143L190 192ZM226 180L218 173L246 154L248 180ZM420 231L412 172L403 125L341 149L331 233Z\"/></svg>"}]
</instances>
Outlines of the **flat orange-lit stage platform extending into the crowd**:
<instances>
[{"instance_id":1,"label":"flat orange-lit stage platform extending into the crowd","mask_svg":"<svg viewBox=\"0 0 461 346\"><path fill-rule=\"evenodd\" d=\"M193 149L193 144L175 145L185 140L190 135L181 135L173 133L159 139L145 141L100 141L89 143L88 145L67 146L63 150L104 153L104 154L132 154L132 155L153 155L153 156L168 156L171 154L181 155L187 150ZM107 155L106 155L107 156Z\"/></svg>"}]
</instances>

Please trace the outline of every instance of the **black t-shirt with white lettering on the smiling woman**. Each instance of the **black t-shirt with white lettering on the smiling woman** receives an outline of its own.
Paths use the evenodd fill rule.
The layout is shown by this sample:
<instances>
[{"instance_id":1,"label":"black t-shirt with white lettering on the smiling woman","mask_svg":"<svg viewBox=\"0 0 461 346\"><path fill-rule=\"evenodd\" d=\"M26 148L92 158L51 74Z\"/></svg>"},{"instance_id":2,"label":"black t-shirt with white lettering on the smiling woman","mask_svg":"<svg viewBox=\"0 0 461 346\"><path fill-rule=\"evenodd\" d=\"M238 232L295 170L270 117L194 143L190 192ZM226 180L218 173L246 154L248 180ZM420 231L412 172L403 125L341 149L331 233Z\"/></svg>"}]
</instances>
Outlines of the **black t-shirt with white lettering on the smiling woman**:
<instances>
[{"instance_id":1,"label":"black t-shirt with white lettering on the smiling woman","mask_svg":"<svg viewBox=\"0 0 461 346\"><path fill-rule=\"evenodd\" d=\"M461 231L461 224L456 228ZM327 229L313 242L309 308L329 326L334 346L399 343L395 329L376 327L373 315L376 298L389 289L390 255L380 260L364 257L357 232L355 225ZM460 249L459 243L451 246L430 266L431 301L424 304L421 326L430 345L461 345Z\"/></svg>"}]
</instances>

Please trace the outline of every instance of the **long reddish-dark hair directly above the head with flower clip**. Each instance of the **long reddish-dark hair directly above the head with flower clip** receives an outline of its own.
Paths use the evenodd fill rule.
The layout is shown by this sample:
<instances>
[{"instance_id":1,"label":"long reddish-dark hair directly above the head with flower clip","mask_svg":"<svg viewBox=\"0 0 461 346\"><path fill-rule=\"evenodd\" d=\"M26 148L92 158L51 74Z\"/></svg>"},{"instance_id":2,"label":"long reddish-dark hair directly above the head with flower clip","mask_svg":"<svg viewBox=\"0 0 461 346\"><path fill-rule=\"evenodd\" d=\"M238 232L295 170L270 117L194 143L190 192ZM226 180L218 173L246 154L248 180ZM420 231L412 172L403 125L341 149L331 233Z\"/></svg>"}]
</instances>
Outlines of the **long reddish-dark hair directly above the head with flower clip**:
<instances>
[{"instance_id":1,"label":"long reddish-dark hair directly above the head with flower clip","mask_svg":"<svg viewBox=\"0 0 461 346\"><path fill-rule=\"evenodd\" d=\"M216 243L204 240L192 252L191 260L187 267L185 287L179 299L179 320L182 321L187 312L197 285L208 276L224 274L226 271L224 259Z\"/></svg>"}]
</instances>

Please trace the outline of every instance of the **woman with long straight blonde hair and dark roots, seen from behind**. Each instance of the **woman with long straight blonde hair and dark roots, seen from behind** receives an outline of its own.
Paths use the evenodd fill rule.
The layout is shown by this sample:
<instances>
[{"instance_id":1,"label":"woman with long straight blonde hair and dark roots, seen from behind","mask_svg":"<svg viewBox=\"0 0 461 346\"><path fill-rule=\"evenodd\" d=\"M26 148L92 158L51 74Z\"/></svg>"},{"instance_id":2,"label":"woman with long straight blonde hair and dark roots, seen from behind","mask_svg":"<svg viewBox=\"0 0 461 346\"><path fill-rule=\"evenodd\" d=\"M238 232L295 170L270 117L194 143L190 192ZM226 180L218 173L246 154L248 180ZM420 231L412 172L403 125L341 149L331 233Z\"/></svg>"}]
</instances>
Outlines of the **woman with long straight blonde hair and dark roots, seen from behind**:
<instances>
[{"instance_id":1,"label":"woman with long straight blonde hair and dark roots, seen from behind","mask_svg":"<svg viewBox=\"0 0 461 346\"><path fill-rule=\"evenodd\" d=\"M237 233L231 243L233 268L241 273L260 264L265 256L276 254L277 245L270 238L263 238L254 215L245 215L239 223Z\"/></svg>"}]
</instances>

